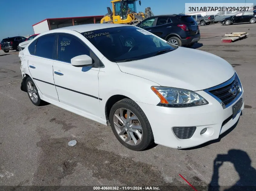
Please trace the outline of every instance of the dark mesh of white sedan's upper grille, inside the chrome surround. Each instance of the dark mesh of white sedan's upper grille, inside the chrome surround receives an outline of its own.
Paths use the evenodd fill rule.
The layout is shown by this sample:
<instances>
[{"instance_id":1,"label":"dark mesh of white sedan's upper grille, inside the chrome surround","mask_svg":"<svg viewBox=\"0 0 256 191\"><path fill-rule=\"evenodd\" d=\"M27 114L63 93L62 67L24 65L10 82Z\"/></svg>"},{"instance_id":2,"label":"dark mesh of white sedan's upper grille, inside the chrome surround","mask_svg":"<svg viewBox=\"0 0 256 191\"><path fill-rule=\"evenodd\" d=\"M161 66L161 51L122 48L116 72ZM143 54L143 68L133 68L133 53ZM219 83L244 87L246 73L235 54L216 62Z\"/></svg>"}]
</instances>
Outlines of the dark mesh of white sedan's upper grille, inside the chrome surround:
<instances>
[{"instance_id":1,"label":"dark mesh of white sedan's upper grille, inside the chrome surround","mask_svg":"<svg viewBox=\"0 0 256 191\"><path fill-rule=\"evenodd\" d=\"M224 103L225 106L228 105L240 93L240 81L238 79L238 76L235 74L234 79L228 81L227 85L218 89L210 90L209 92L214 96L218 97Z\"/></svg>"}]
</instances>

